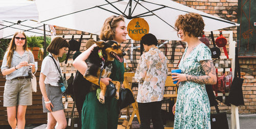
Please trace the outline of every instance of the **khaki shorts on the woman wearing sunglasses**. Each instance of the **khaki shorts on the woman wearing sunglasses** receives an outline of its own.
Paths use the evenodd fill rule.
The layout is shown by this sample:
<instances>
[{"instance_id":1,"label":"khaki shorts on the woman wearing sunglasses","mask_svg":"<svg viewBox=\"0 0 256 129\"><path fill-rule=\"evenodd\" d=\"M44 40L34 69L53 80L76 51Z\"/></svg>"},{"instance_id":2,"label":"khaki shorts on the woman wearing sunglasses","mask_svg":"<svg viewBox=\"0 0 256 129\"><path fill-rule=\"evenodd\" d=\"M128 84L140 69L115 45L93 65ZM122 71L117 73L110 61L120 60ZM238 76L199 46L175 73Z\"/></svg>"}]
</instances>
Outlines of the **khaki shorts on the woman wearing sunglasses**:
<instances>
[{"instance_id":1,"label":"khaki shorts on the woman wearing sunglasses","mask_svg":"<svg viewBox=\"0 0 256 129\"><path fill-rule=\"evenodd\" d=\"M30 78L6 80L4 106L32 105Z\"/></svg>"}]
</instances>

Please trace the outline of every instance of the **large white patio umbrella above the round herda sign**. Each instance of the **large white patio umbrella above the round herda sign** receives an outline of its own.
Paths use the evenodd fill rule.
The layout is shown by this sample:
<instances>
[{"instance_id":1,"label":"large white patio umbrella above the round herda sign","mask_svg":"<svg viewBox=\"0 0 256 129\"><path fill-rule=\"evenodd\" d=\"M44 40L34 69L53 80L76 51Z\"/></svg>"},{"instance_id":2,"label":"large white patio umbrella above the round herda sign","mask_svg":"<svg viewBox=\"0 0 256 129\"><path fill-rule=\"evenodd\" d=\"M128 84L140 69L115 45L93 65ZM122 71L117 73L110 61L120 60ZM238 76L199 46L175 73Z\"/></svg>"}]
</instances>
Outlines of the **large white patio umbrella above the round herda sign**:
<instances>
[{"instance_id":1,"label":"large white patio umbrella above the round herda sign","mask_svg":"<svg viewBox=\"0 0 256 129\"><path fill-rule=\"evenodd\" d=\"M203 16L205 31L237 25L170 0L37 0L36 5L39 22L93 34L100 33L107 17L119 14L126 18L126 25L132 18L144 18L150 27L149 32L166 40L179 40L174 24L178 15L188 12Z\"/></svg>"}]
</instances>

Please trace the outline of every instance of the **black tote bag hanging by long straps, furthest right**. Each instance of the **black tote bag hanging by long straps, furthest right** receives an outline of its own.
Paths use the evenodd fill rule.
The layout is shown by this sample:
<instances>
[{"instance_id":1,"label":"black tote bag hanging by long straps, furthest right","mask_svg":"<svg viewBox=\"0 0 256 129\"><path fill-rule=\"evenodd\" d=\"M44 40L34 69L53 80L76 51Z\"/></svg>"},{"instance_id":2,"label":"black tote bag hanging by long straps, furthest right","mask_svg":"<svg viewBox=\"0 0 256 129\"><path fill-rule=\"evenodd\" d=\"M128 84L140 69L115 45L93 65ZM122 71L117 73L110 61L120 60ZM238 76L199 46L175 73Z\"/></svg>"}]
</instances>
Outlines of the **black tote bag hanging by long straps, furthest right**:
<instances>
[{"instance_id":1,"label":"black tote bag hanging by long straps, furthest right","mask_svg":"<svg viewBox=\"0 0 256 129\"><path fill-rule=\"evenodd\" d=\"M234 78L229 91L230 104L233 104L236 106L244 105L244 97L243 97L243 91L242 91L243 81L244 79L241 78L240 66L239 66L239 60L238 60L238 48L236 48L236 65L234 69Z\"/></svg>"}]
</instances>

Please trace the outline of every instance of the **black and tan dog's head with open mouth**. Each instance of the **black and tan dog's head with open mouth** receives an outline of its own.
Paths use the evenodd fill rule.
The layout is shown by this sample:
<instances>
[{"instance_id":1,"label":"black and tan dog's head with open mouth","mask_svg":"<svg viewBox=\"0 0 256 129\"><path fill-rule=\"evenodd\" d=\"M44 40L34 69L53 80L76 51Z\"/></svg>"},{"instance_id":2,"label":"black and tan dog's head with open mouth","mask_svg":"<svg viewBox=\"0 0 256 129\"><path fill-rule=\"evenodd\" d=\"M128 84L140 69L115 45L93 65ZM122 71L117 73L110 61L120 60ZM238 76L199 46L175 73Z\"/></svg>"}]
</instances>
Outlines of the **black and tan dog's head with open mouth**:
<instances>
[{"instance_id":1,"label":"black and tan dog's head with open mouth","mask_svg":"<svg viewBox=\"0 0 256 129\"><path fill-rule=\"evenodd\" d=\"M113 61L114 59L119 62L123 62L123 56L125 53L121 49L120 44L114 40L108 41L95 41L95 44L102 50L102 52L107 57L106 60Z\"/></svg>"}]
</instances>

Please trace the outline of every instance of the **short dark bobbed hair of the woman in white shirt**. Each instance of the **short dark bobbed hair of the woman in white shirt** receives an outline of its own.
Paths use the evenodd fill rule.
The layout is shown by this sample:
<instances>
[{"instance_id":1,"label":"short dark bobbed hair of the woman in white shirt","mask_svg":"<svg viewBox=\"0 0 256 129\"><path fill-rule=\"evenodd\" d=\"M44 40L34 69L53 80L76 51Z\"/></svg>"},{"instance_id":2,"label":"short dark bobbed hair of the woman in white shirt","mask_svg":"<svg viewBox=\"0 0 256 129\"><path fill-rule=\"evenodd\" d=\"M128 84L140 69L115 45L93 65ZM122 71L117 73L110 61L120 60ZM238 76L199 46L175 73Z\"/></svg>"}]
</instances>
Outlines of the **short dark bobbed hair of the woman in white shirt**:
<instances>
[{"instance_id":1,"label":"short dark bobbed hair of the woman in white shirt","mask_svg":"<svg viewBox=\"0 0 256 129\"><path fill-rule=\"evenodd\" d=\"M59 54L59 49L63 47L69 47L69 42L62 37L55 37L51 44L47 47L47 51L54 54L58 55Z\"/></svg>"}]
</instances>

